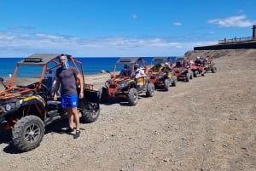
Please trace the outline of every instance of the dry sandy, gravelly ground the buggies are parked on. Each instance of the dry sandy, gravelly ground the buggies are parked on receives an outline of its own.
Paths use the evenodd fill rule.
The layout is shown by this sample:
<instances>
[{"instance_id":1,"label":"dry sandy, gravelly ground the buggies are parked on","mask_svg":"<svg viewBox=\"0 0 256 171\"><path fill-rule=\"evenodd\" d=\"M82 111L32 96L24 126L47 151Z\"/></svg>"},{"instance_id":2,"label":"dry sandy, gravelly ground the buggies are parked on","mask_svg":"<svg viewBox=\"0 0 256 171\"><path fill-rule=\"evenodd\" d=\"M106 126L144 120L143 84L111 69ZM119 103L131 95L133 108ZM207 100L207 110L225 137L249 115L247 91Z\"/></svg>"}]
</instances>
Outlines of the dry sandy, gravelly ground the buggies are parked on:
<instances>
[{"instance_id":1,"label":"dry sandy, gravelly ground the buggies are parked on","mask_svg":"<svg viewBox=\"0 0 256 171\"><path fill-rule=\"evenodd\" d=\"M217 73L142 95L136 106L101 105L78 140L61 134L66 120L47 127L41 145L25 153L1 135L1 169L256 170L256 49L188 53L200 54L217 57ZM86 79L97 89L108 76Z\"/></svg>"}]
</instances>

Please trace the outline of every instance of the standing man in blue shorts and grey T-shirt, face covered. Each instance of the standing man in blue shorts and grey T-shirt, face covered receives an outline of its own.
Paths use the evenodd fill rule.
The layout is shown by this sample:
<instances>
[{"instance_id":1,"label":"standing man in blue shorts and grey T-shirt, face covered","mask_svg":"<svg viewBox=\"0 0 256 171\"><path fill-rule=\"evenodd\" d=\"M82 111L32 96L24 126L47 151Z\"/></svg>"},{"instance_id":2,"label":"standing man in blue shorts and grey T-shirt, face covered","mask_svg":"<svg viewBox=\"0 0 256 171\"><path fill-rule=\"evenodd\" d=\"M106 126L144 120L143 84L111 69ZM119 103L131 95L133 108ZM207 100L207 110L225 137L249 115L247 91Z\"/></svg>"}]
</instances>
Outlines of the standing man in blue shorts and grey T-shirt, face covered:
<instances>
[{"instance_id":1,"label":"standing man in blue shorts and grey T-shirt, face covered","mask_svg":"<svg viewBox=\"0 0 256 171\"><path fill-rule=\"evenodd\" d=\"M78 92L76 86L76 79L79 81L80 93L79 99L84 98L84 83L83 78L79 71L72 66L68 66L67 56L65 54L60 55L61 67L56 70L56 83L54 100L57 100L57 92L61 85L61 105L65 108L68 116L69 128L68 132L73 132L73 123L76 124L76 132L73 135L74 139L80 136L80 123L79 123L79 111L78 111Z\"/></svg>"}]
</instances>

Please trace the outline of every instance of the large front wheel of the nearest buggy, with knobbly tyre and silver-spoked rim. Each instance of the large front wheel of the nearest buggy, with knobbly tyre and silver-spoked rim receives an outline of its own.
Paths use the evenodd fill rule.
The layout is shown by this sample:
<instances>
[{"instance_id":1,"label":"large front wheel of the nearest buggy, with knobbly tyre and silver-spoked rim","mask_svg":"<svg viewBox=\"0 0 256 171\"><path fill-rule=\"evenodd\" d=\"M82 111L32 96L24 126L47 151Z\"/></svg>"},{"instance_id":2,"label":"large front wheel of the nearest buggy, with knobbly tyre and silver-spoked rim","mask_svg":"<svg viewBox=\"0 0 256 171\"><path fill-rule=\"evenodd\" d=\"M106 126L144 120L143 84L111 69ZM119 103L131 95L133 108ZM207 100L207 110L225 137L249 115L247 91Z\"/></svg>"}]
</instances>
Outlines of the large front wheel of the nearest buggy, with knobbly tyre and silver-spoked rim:
<instances>
[{"instance_id":1,"label":"large front wheel of the nearest buggy, with knobbly tyre and silver-spoked rim","mask_svg":"<svg viewBox=\"0 0 256 171\"><path fill-rule=\"evenodd\" d=\"M13 144L19 151L30 151L38 147L44 137L44 123L37 116L22 117L12 130Z\"/></svg>"}]
</instances>

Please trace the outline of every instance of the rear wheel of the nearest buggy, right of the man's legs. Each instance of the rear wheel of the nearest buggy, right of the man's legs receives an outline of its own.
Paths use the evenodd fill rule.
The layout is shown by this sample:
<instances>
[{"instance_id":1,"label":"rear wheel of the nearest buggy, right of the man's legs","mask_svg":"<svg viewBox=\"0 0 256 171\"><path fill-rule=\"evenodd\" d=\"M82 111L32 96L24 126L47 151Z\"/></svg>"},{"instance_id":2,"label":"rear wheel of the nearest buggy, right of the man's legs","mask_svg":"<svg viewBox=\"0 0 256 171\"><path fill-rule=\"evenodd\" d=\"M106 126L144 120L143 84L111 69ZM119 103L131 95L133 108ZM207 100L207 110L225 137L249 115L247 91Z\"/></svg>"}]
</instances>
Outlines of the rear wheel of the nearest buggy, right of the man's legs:
<instances>
[{"instance_id":1,"label":"rear wheel of the nearest buggy, right of the man's legs","mask_svg":"<svg viewBox=\"0 0 256 171\"><path fill-rule=\"evenodd\" d=\"M81 118L84 123L93 123L100 115L100 105L97 103L91 103L88 100L83 100L84 105L81 108Z\"/></svg>"}]
</instances>

